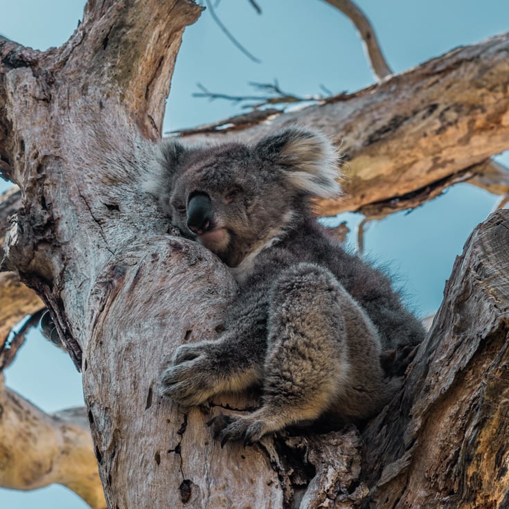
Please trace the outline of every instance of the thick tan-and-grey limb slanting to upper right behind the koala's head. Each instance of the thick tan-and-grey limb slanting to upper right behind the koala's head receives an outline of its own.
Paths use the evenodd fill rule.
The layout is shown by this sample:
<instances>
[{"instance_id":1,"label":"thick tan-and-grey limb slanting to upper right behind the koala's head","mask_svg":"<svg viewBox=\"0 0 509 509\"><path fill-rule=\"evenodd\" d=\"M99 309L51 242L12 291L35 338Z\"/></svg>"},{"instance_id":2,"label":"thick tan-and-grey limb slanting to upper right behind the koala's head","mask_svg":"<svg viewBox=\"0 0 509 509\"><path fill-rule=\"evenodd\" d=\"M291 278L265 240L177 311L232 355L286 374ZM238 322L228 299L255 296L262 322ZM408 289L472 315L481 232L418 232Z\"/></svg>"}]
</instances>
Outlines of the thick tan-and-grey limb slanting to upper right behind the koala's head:
<instances>
[{"instance_id":1,"label":"thick tan-and-grey limb slanting to upper right behind the koala's head","mask_svg":"<svg viewBox=\"0 0 509 509\"><path fill-rule=\"evenodd\" d=\"M215 132L190 142L253 141L291 123L318 127L341 147L346 195L322 215L364 212L482 163L509 148L509 34L465 46L350 95ZM245 127L247 125L247 127ZM373 207L370 213L373 213Z\"/></svg>"}]
</instances>

